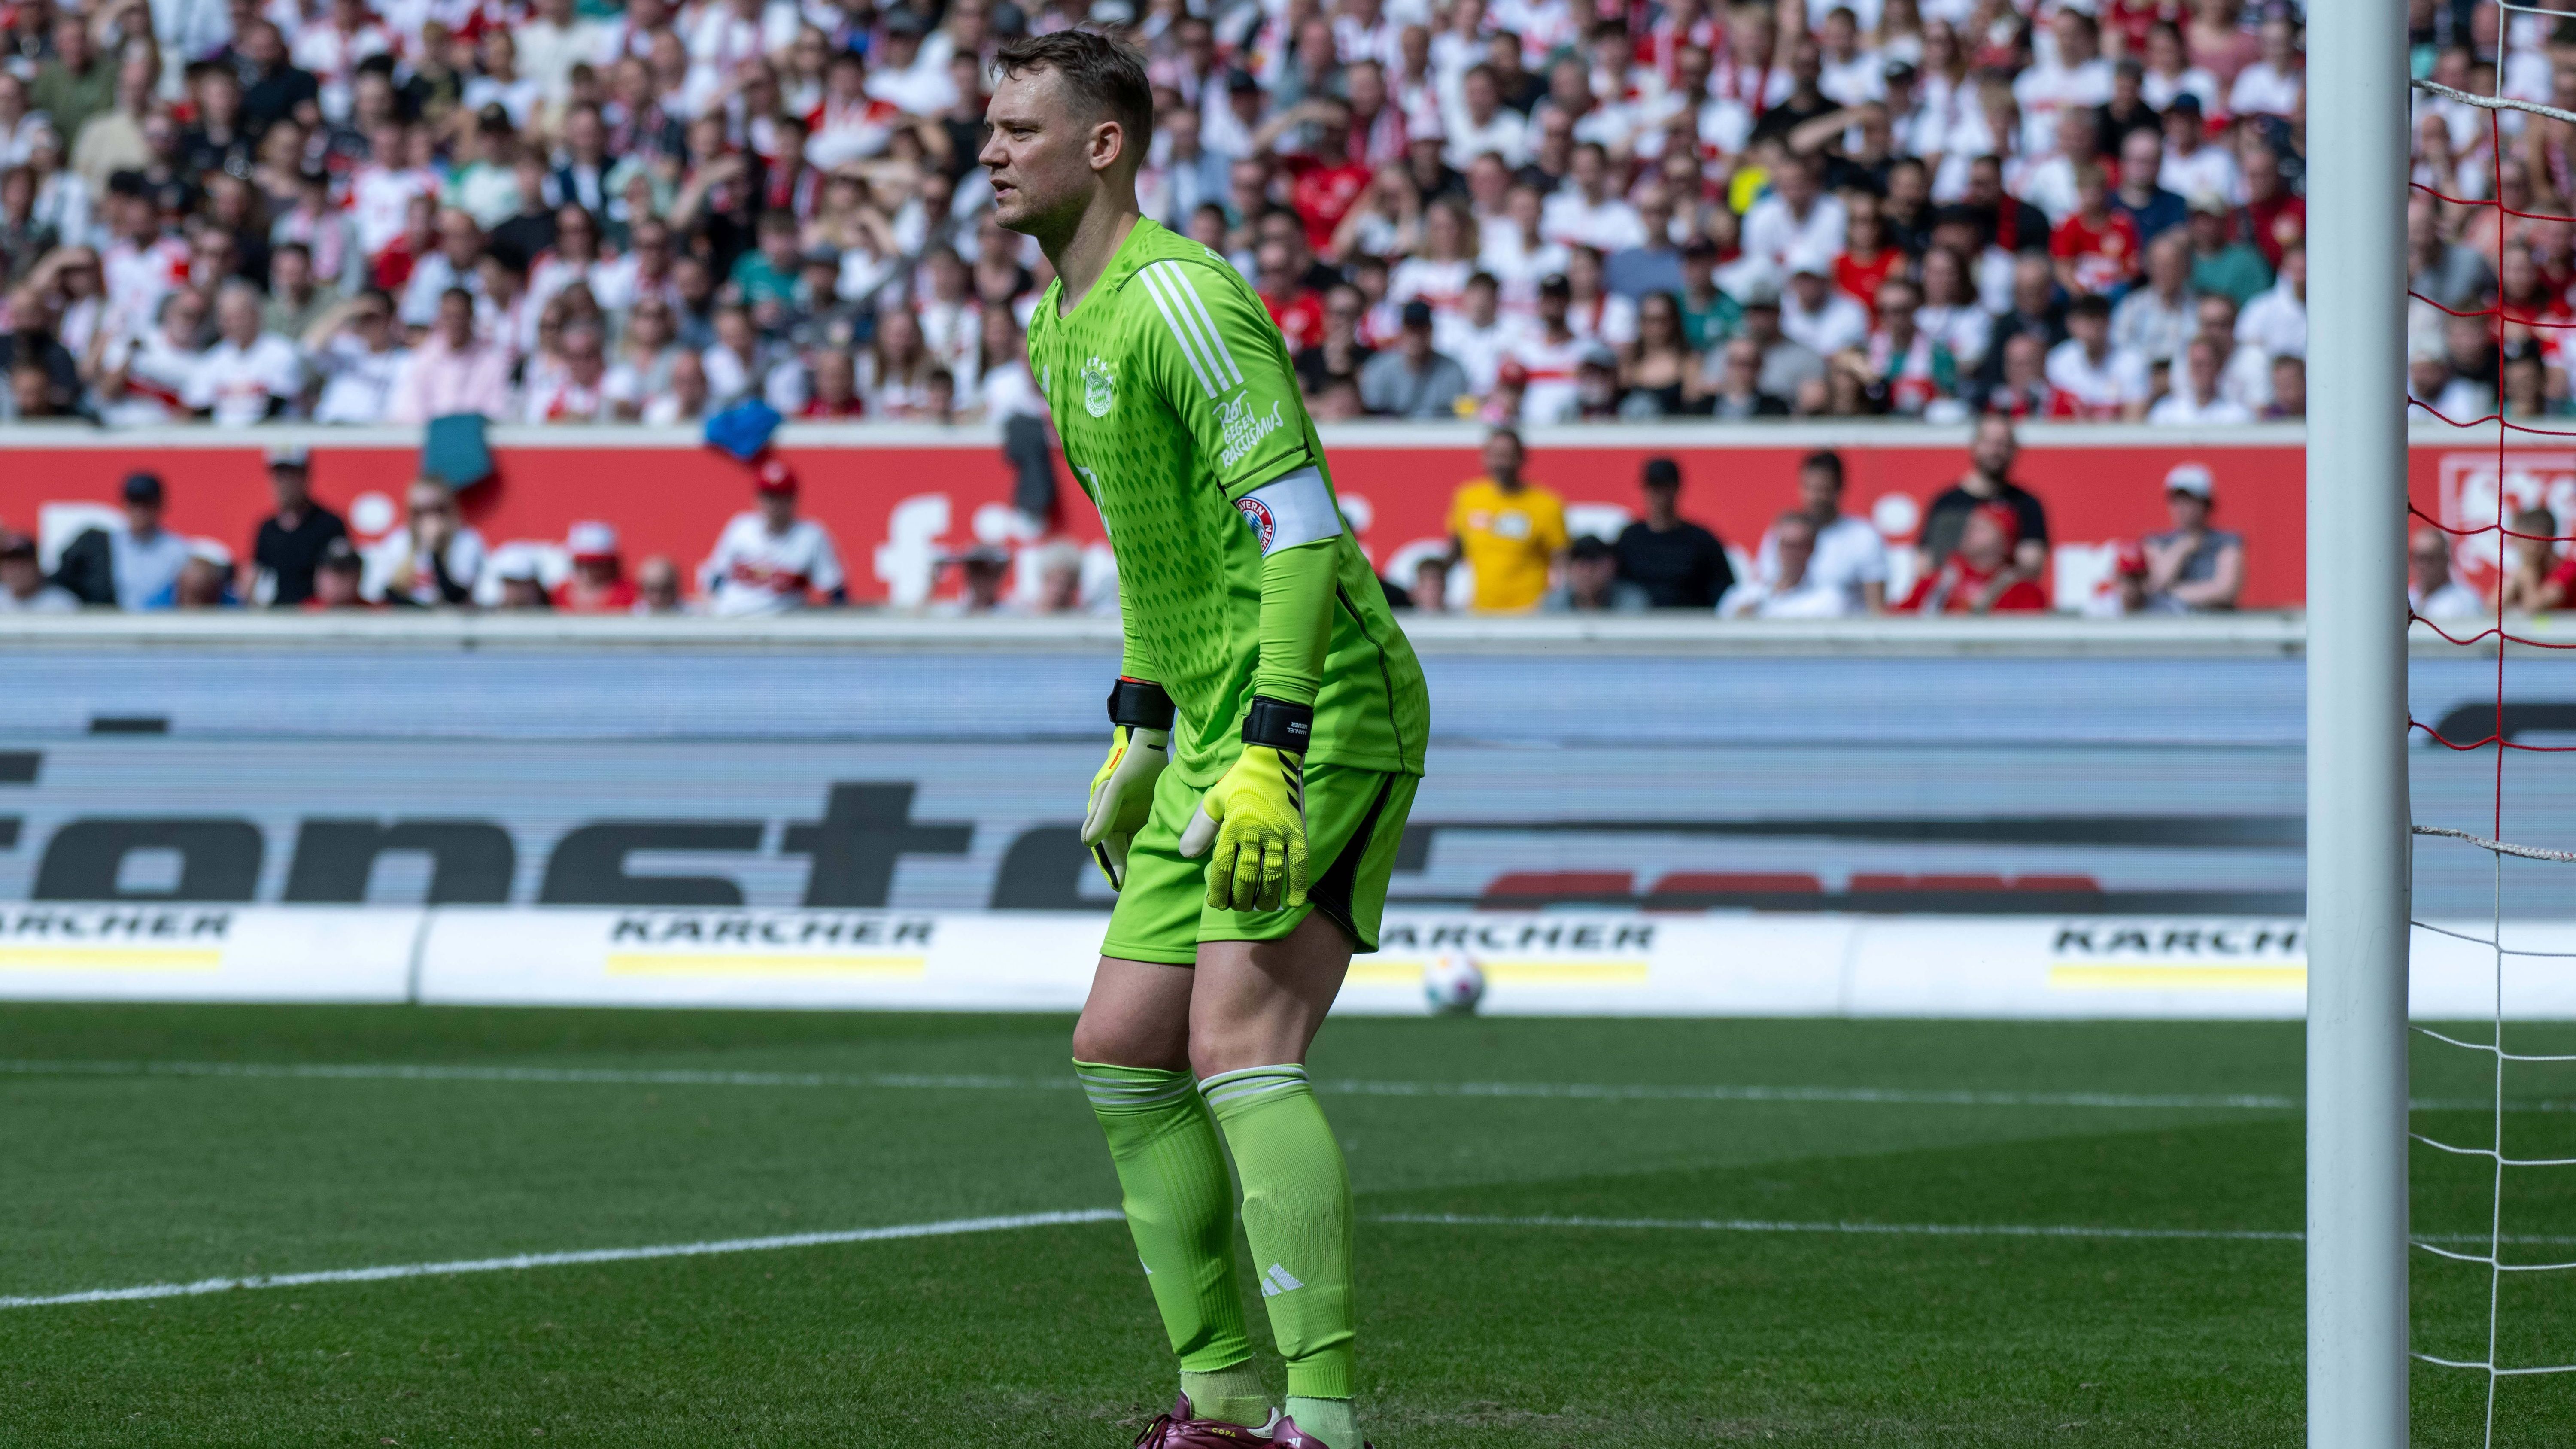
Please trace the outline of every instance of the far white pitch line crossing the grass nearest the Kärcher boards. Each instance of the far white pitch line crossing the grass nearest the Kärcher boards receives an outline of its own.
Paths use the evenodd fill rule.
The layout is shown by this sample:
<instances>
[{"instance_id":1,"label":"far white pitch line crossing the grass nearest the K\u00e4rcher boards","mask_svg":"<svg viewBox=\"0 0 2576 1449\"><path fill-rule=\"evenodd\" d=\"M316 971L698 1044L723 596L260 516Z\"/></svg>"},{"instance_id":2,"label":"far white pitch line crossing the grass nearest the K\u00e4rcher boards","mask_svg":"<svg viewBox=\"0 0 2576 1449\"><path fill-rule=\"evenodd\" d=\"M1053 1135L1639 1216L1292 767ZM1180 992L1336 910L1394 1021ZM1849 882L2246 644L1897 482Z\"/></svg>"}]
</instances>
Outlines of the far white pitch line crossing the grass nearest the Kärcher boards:
<instances>
[{"instance_id":1,"label":"far white pitch line crossing the grass nearest the K\u00e4rcher boards","mask_svg":"<svg viewBox=\"0 0 2576 1449\"><path fill-rule=\"evenodd\" d=\"M1005 1078L938 1073L708 1073L654 1067L461 1067L412 1062L80 1062L15 1060L0 1075L62 1078L283 1078L283 1080L433 1080L433 1083L559 1083L559 1085L742 1085L742 1088L899 1088L899 1091L1074 1091L1074 1078ZM2089 1109L2231 1109L2298 1111L2295 1096L2269 1093L2045 1093L1816 1085L1646 1085L1646 1083L1401 1083L1319 1080L1342 1096L1455 1096L1540 1101L1780 1101L1860 1106L2089 1106ZM2416 1104L2491 1109L2491 1101ZM2576 1104L2566 1104L2576 1109Z\"/></svg>"}]
</instances>

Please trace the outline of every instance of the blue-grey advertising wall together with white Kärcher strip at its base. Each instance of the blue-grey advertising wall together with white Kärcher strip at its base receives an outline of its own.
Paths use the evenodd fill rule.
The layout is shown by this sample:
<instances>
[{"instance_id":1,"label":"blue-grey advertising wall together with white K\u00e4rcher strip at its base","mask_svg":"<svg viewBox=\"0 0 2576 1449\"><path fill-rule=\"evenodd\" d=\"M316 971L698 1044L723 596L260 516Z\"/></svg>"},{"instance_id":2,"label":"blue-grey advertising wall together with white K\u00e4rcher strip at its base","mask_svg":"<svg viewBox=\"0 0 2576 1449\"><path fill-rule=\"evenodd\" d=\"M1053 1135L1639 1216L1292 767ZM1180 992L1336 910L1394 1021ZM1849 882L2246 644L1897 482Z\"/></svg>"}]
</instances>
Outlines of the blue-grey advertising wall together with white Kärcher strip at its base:
<instances>
[{"instance_id":1,"label":"blue-grey advertising wall together with white K\u00e4rcher strip at its base","mask_svg":"<svg viewBox=\"0 0 2576 1449\"><path fill-rule=\"evenodd\" d=\"M2298 1011L2295 619L1414 639L1430 776L1352 1011L1445 946L1494 1011ZM1110 905L1074 820L1113 621L75 616L0 660L5 998L1069 1008ZM2576 730L2576 660L2514 683L2506 732ZM2491 663L2411 688L2494 727ZM2486 828L2478 758L2411 766L2419 820ZM2486 920L2481 851L2419 866ZM2506 874L2517 949L2576 931L2555 884ZM2419 946L2419 1008L2483 1011L2488 954ZM2517 1011L2576 1011L2524 964Z\"/></svg>"}]
</instances>

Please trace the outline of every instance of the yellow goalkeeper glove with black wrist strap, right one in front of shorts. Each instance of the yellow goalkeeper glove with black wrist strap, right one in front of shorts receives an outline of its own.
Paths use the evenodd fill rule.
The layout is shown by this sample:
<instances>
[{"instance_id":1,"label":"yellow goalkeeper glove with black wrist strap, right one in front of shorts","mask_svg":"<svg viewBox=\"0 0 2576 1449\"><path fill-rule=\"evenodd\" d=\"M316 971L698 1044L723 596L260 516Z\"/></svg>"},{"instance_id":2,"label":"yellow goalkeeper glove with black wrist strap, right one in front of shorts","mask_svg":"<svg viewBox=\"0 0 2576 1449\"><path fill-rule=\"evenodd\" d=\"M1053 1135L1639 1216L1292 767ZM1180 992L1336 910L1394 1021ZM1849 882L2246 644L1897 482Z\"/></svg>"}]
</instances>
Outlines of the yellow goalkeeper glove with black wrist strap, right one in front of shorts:
<instances>
[{"instance_id":1,"label":"yellow goalkeeper glove with black wrist strap, right one in front of shorts","mask_svg":"<svg viewBox=\"0 0 2576 1449\"><path fill-rule=\"evenodd\" d=\"M1208 861L1216 910L1296 910L1306 905L1306 740L1314 706L1252 696L1244 753L1198 799L1180 853Z\"/></svg>"}]
</instances>

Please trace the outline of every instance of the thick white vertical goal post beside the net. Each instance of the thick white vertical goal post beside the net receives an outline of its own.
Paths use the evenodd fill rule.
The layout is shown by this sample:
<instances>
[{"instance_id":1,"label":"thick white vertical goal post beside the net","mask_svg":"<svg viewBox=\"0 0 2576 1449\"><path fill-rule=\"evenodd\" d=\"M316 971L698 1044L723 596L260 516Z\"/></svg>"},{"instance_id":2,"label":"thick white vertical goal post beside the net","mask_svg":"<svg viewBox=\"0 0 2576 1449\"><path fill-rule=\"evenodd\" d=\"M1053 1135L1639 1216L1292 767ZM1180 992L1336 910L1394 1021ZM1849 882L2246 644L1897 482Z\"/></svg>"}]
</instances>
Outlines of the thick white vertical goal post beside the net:
<instances>
[{"instance_id":1,"label":"thick white vertical goal post beside the net","mask_svg":"<svg viewBox=\"0 0 2576 1449\"><path fill-rule=\"evenodd\" d=\"M2406 1444L2403 0L2308 28L2308 1444Z\"/></svg>"}]
</instances>

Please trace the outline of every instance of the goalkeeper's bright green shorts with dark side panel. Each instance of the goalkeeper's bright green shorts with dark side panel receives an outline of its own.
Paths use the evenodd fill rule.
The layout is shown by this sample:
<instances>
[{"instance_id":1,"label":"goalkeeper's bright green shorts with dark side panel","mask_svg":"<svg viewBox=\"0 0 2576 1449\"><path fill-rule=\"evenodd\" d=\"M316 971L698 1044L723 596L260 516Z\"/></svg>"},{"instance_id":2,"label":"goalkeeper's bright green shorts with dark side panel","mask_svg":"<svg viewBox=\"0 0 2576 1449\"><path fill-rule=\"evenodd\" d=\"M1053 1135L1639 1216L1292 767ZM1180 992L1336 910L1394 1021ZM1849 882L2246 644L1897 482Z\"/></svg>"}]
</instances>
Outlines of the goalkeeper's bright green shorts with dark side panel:
<instances>
[{"instance_id":1,"label":"goalkeeper's bright green shorts with dark side panel","mask_svg":"<svg viewBox=\"0 0 2576 1449\"><path fill-rule=\"evenodd\" d=\"M1110 910L1103 957L1123 962L1198 962L1200 941L1278 941L1321 910L1352 949L1378 949L1386 882L1396 874L1404 817L1419 776L1306 766L1306 905L1293 910L1216 910L1208 905L1208 856L1180 856L1180 833L1203 794L1180 771L1154 781L1154 815L1128 846L1128 879Z\"/></svg>"}]
</instances>

